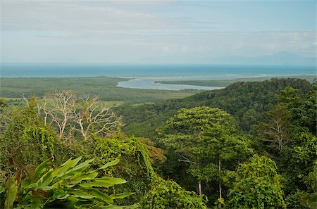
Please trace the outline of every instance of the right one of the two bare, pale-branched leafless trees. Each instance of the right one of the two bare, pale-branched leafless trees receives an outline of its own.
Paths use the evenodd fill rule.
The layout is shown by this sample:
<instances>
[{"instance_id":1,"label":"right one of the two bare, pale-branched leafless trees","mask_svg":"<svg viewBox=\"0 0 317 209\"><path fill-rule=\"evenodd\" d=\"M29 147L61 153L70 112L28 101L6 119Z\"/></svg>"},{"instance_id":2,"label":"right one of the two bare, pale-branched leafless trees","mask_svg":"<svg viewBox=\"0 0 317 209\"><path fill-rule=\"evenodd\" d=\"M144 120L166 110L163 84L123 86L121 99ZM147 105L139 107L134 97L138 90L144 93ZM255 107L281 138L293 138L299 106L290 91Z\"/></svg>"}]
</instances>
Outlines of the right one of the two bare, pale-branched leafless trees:
<instances>
[{"instance_id":1,"label":"right one of the two bare, pale-branched leafless trees","mask_svg":"<svg viewBox=\"0 0 317 209\"><path fill-rule=\"evenodd\" d=\"M116 115L97 98L83 96L80 98L80 108L75 109L75 123L77 131L84 140L88 140L91 134L108 134L116 132L121 118Z\"/></svg>"}]
</instances>

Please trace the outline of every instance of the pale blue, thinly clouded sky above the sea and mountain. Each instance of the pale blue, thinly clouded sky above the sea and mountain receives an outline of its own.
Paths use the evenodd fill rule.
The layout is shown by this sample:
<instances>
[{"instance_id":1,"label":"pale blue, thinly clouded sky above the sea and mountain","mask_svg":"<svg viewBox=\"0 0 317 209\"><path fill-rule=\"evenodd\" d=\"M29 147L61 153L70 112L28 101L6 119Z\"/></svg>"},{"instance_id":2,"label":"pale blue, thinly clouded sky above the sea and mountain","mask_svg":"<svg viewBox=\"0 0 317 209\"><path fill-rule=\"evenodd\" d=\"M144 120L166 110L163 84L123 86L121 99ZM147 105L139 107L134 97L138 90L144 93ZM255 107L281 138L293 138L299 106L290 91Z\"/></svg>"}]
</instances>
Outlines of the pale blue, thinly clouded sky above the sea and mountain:
<instances>
[{"instance_id":1,"label":"pale blue, thinly clouded sky above the sea and mountain","mask_svg":"<svg viewBox=\"0 0 317 209\"><path fill-rule=\"evenodd\" d=\"M0 6L1 63L316 57L316 1L2 0Z\"/></svg>"}]
</instances>

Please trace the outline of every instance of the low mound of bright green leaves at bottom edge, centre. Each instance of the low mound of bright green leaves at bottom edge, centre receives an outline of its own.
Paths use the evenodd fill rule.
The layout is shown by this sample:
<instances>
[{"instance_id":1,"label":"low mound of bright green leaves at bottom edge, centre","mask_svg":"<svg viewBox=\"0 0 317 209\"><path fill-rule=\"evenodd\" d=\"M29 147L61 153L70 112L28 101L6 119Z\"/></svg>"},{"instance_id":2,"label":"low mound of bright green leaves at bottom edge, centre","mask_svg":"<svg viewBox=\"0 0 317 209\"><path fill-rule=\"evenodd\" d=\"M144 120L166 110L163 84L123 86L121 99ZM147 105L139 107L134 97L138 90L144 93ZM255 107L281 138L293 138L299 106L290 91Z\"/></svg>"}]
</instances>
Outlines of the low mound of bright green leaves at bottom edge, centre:
<instances>
[{"instance_id":1,"label":"low mound of bright green leaves at bottom edge, centre","mask_svg":"<svg viewBox=\"0 0 317 209\"><path fill-rule=\"evenodd\" d=\"M186 191L173 181L160 179L142 200L142 208L184 208L206 209L206 197Z\"/></svg>"}]
</instances>

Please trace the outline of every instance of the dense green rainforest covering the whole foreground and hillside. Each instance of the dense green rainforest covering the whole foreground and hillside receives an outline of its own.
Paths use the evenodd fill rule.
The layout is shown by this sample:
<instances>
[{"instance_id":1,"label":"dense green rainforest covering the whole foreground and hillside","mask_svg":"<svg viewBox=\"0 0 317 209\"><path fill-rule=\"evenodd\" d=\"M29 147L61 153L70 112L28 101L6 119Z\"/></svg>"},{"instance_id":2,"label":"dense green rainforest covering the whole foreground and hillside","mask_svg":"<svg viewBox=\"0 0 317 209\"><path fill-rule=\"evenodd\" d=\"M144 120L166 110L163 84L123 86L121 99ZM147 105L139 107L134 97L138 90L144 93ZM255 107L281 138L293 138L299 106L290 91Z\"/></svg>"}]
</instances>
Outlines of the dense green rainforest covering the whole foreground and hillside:
<instances>
[{"instance_id":1,"label":"dense green rainforest covering the whole foreground and hillside","mask_svg":"<svg viewBox=\"0 0 317 209\"><path fill-rule=\"evenodd\" d=\"M316 82L0 103L0 208L316 208Z\"/></svg>"}]
</instances>

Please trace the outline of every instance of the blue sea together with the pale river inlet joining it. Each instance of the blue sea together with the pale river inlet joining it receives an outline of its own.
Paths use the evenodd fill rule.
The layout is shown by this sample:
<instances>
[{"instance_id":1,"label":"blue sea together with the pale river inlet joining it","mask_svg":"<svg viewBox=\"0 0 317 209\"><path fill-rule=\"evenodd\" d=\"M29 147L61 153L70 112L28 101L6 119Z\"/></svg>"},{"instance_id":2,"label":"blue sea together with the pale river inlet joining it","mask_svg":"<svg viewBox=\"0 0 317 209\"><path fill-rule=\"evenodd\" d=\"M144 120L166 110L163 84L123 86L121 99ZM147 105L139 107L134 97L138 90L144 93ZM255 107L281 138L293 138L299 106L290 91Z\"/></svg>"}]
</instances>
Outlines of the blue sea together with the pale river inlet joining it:
<instances>
[{"instance_id":1,"label":"blue sea together with the pale river inlet joining it","mask_svg":"<svg viewBox=\"0 0 317 209\"><path fill-rule=\"evenodd\" d=\"M4 64L0 77L128 77L119 87L141 89L217 89L189 85L158 84L161 80L224 80L237 77L316 75L316 66L268 65L75 65ZM133 78L133 79L132 79Z\"/></svg>"}]
</instances>

